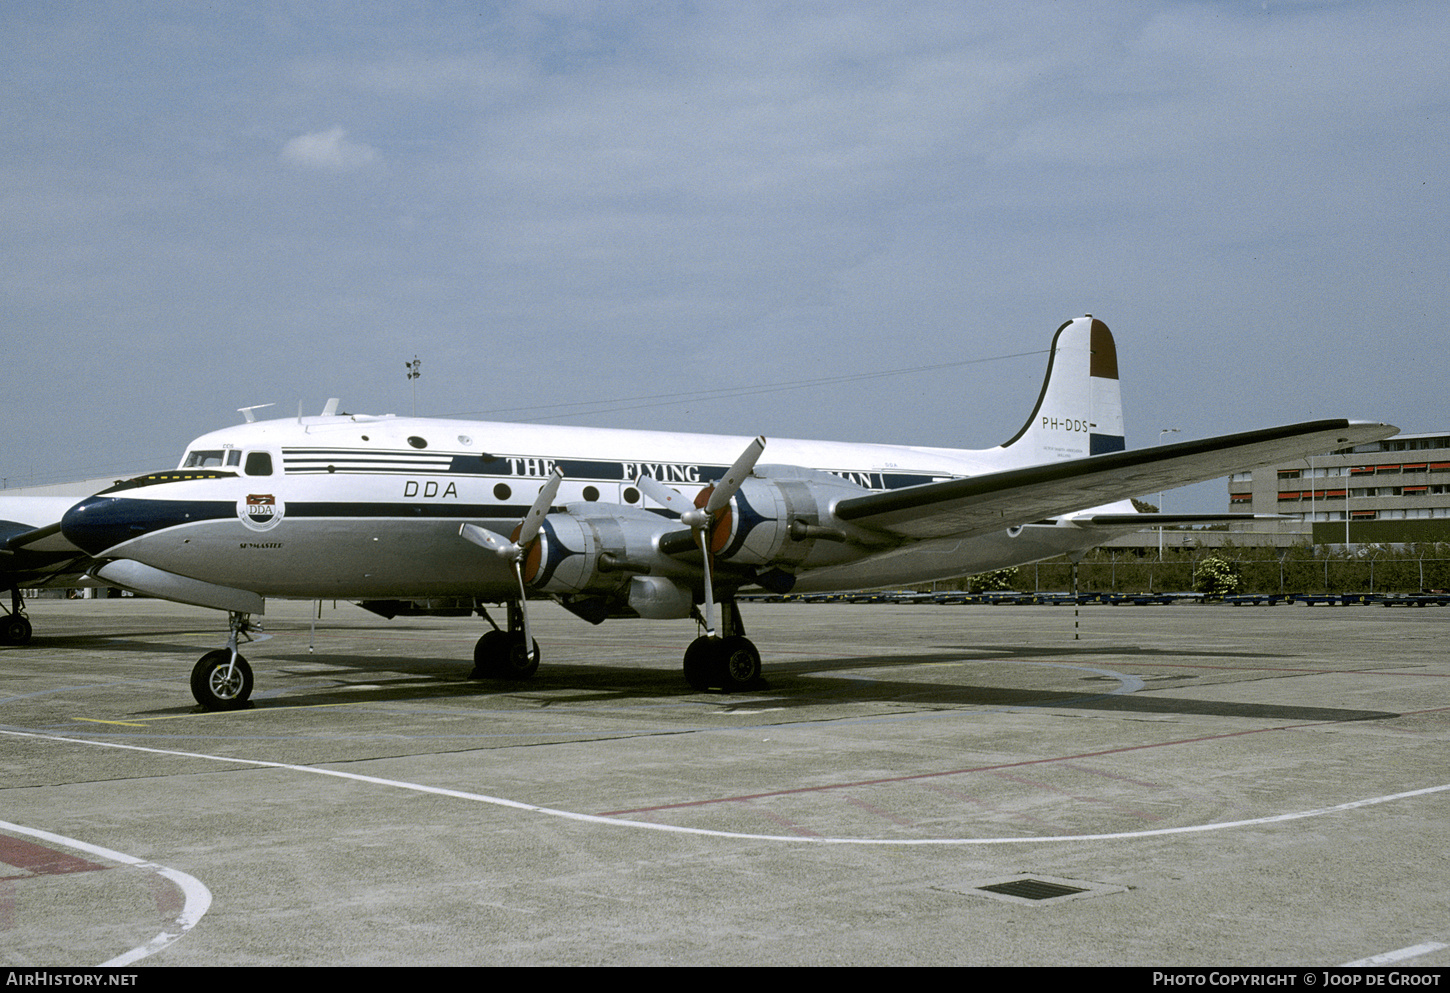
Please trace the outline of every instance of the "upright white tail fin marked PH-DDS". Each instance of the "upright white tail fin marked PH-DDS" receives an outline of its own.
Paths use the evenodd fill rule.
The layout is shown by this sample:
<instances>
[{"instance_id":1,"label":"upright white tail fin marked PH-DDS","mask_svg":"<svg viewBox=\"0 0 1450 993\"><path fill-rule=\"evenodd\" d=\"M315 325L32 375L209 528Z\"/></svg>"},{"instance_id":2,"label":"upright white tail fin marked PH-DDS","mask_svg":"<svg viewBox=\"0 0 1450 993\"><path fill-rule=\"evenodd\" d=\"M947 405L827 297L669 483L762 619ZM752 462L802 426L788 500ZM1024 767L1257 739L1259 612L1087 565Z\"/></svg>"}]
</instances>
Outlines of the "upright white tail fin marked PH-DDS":
<instances>
[{"instance_id":1,"label":"upright white tail fin marked PH-DDS","mask_svg":"<svg viewBox=\"0 0 1450 993\"><path fill-rule=\"evenodd\" d=\"M1053 338L1032 416L999 451L1014 465L1038 465L1125 446L1112 332L1092 315L1069 320Z\"/></svg>"}]
</instances>

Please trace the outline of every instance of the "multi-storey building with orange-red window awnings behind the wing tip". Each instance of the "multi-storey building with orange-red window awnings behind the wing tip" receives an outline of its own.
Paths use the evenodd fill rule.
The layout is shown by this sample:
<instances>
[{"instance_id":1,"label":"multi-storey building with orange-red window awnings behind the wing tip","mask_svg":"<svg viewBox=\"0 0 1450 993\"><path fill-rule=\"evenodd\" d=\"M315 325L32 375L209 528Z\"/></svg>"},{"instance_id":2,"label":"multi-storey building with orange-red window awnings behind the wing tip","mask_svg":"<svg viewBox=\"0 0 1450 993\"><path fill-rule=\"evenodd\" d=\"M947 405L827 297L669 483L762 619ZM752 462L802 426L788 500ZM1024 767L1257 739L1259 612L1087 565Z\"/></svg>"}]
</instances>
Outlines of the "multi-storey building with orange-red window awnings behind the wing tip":
<instances>
[{"instance_id":1,"label":"multi-storey building with orange-red window awnings behind the wing tip","mask_svg":"<svg viewBox=\"0 0 1450 993\"><path fill-rule=\"evenodd\" d=\"M1450 541L1450 433L1396 435L1228 478L1228 509L1317 545ZM1279 529L1259 526L1259 529Z\"/></svg>"}]
</instances>

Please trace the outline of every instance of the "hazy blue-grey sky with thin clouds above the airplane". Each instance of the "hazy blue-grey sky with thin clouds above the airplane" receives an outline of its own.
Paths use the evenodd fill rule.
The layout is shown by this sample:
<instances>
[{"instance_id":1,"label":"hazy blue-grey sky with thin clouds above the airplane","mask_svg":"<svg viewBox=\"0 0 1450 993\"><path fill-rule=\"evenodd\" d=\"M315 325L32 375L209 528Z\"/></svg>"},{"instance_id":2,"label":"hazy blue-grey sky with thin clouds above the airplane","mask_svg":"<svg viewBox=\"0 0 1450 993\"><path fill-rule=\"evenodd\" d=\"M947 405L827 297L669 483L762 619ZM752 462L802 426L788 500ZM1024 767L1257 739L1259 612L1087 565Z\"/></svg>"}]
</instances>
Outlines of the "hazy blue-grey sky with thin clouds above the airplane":
<instances>
[{"instance_id":1,"label":"hazy blue-grey sky with thin clouds above the airplane","mask_svg":"<svg viewBox=\"0 0 1450 993\"><path fill-rule=\"evenodd\" d=\"M1440 0L6 3L0 477L415 387L983 448L1088 312L1130 446L1447 431L1447 38Z\"/></svg>"}]
</instances>

